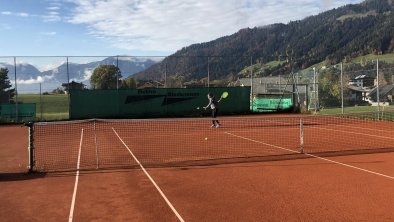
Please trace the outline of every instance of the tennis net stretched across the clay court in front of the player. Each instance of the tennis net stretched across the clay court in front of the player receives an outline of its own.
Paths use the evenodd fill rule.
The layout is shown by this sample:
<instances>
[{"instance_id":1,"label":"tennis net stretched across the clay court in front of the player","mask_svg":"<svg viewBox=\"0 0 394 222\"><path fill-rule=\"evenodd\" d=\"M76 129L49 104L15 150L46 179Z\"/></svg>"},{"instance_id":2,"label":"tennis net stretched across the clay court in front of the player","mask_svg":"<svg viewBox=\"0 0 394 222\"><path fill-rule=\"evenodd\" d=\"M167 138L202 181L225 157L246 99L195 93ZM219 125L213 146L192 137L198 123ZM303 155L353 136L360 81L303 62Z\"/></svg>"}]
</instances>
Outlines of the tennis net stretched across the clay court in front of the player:
<instances>
[{"instance_id":1,"label":"tennis net stretched across the clay court in front of the player","mask_svg":"<svg viewBox=\"0 0 394 222\"><path fill-rule=\"evenodd\" d=\"M37 122L34 171L172 167L394 150L394 113ZM138 160L138 162L137 162Z\"/></svg>"}]
</instances>

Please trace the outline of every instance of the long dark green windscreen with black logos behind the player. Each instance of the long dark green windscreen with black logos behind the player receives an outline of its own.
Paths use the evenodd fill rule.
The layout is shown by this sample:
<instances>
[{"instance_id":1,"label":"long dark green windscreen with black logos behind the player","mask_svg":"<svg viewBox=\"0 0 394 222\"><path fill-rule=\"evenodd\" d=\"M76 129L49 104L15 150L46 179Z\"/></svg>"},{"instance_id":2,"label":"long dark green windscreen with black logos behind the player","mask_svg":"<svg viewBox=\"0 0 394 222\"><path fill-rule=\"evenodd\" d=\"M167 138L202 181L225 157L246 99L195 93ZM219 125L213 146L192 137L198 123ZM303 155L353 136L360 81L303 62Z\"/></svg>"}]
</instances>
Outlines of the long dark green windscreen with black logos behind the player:
<instances>
[{"instance_id":1,"label":"long dark green windscreen with black logos behind the player","mask_svg":"<svg viewBox=\"0 0 394 222\"><path fill-rule=\"evenodd\" d=\"M208 104L208 92L217 99L228 92L229 96L219 105L221 114L249 111L250 87L73 90L70 118L200 116L209 113L202 108Z\"/></svg>"}]
</instances>

